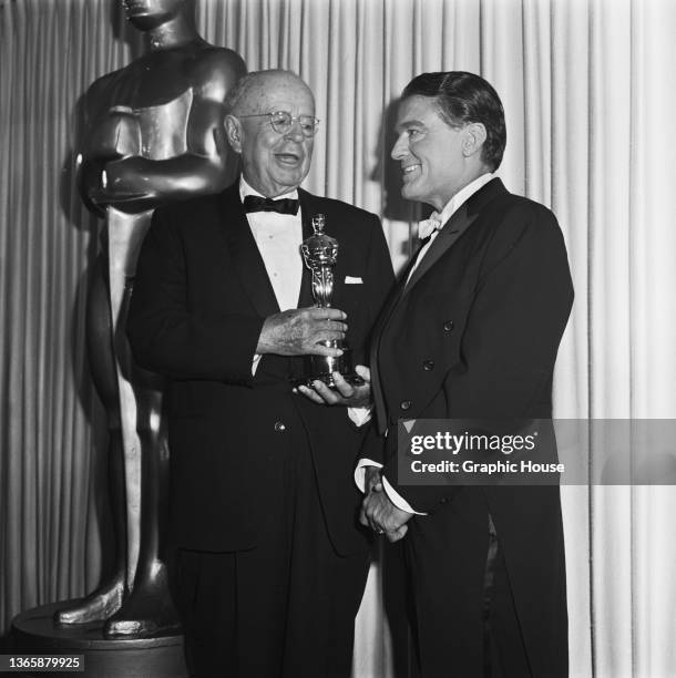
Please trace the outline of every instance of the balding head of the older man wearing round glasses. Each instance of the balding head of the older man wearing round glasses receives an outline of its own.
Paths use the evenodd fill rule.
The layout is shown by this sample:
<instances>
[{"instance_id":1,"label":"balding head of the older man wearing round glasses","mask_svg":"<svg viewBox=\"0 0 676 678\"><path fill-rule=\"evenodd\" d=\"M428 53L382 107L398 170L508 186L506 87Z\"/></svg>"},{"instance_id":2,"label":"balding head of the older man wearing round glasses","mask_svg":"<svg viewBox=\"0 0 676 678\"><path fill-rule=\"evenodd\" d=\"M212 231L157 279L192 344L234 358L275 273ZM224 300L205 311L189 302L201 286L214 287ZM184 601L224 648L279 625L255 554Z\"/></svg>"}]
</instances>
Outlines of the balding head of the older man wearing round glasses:
<instances>
[{"instance_id":1,"label":"balding head of the older man wearing round glasses","mask_svg":"<svg viewBox=\"0 0 676 678\"><path fill-rule=\"evenodd\" d=\"M315 97L307 84L290 71L249 73L231 90L225 106L227 138L242 156L244 178L267 197L297 188L309 172L314 145ZM287 125L275 122L284 113Z\"/></svg>"}]
</instances>

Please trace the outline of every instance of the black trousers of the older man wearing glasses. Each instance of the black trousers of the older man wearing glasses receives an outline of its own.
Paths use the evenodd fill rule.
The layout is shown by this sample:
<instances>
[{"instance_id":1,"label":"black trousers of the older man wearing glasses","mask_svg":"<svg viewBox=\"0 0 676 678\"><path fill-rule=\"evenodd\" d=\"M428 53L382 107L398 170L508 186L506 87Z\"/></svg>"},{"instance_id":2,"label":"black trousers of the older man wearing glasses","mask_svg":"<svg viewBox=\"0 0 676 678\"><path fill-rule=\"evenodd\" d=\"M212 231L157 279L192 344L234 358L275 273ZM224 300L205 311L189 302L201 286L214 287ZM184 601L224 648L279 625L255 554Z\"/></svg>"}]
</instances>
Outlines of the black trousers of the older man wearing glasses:
<instances>
[{"instance_id":1,"label":"black trousers of the older man wearing glasses","mask_svg":"<svg viewBox=\"0 0 676 678\"><path fill-rule=\"evenodd\" d=\"M178 553L178 608L195 678L350 676L368 553L335 552L301 432L277 463L256 548Z\"/></svg>"}]
</instances>

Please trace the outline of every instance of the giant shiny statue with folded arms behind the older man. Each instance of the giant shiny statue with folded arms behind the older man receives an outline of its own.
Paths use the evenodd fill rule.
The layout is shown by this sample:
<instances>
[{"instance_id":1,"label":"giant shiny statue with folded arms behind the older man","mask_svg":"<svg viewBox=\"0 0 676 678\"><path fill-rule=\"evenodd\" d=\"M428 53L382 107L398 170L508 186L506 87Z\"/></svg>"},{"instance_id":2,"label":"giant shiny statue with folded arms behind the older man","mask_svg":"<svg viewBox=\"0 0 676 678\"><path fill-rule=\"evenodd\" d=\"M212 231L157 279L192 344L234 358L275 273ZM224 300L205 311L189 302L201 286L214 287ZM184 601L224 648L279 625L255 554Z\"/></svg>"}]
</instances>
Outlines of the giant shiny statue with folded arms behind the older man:
<instances>
[{"instance_id":1,"label":"giant shiny statue with folded arms behind the older man","mask_svg":"<svg viewBox=\"0 0 676 678\"><path fill-rule=\"evenodd\" d=\"M233 51L197 34L194 0L124 0L146 52L96 80L86 94L78 157L82 198L105 219L90 291L88 346L105 405L115 572L60 625L105 619L107 637L177 626L164 559L168 450L162 379L133 363L124 336L141 242L153 209L215 193L236 174L223 133L224 99L245 73Z\"/></svg>"}]
</instances>

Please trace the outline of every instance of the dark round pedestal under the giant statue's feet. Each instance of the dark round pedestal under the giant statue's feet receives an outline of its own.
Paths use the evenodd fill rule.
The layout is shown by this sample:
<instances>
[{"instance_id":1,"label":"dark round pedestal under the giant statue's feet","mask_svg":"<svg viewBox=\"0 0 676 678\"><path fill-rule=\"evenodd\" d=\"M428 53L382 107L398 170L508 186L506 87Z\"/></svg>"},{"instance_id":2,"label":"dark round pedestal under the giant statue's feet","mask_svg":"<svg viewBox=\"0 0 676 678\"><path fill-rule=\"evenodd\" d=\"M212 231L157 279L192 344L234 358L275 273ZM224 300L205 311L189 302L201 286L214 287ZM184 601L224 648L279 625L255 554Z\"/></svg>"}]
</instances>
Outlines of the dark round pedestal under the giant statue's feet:
<instances>
[{"instance_id":1,"label":"dark round pedestal under the giant statue's feet","mask_svg":"<svg viewBox=\"0 0 676 678\"><path fill-rule=\"evenodd\" d=\"M68 605L73 603L69 600ZM181 634L173 631L146 638L109 639L103 636L101 622L57 626L54 613L65 605L65 602L43 605L14 617L12 635L16 647L10 653L84 655L84 671L76 674L84 678L188 677ZM45 675L49 674L35 674Z\"/></svg>"}]
</instances>

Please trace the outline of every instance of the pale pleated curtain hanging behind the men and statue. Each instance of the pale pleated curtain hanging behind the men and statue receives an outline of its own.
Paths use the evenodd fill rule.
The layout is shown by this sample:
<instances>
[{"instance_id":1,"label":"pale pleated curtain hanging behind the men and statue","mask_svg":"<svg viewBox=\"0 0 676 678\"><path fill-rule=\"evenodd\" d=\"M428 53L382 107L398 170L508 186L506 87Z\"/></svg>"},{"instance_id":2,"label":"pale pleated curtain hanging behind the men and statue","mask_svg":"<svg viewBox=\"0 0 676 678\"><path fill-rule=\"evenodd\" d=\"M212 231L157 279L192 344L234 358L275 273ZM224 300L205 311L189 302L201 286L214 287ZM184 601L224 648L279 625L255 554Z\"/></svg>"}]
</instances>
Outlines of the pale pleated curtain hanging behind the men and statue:
<instances>
[{"instance_id":1,"label":"pale pleated curtain hanging behind the men and statue","mask_svg":"<svg viewBox=\"0 0 676 678\"><path fill-rule=\"evenodd\" d=\"M110 553L84 341L100 225L72 154L81 95L140 54L121 4L0 0L0 634L23 609L91 590ZM249 70L308 82L321 126L306 186L380 214L397 268L419 210L388 161L392 103L423 71L485 76L506 111L500 175L552 207L569 247L555 414L676 418L676 3L197 0L197 17ZM571 675L675 676L675 489L562 494ZM392 675L387 629L376 563L357 678Z\"/></svg>"}]
</instances>

